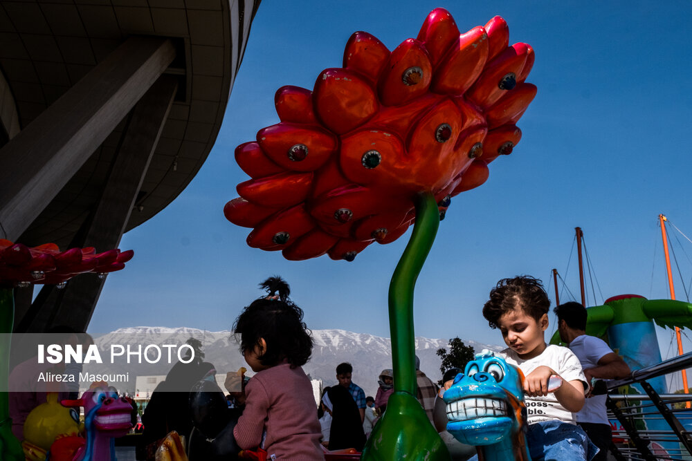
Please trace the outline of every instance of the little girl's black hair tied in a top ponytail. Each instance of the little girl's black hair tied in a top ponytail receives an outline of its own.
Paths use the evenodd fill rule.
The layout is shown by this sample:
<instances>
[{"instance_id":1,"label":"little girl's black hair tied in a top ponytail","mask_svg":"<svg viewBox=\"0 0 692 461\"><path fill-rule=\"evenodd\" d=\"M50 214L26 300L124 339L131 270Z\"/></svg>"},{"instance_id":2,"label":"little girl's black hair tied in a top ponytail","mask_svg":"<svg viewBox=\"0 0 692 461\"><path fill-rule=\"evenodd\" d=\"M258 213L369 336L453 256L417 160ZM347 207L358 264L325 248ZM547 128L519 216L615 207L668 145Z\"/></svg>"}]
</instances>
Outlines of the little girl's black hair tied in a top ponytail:
<instances>
[{"instance_id":1,"label":"little girl's black hair tied in a top ponytail","mask_svg":"<svg viewBox=\"0 0 692 461\"><path fill-rule=\"evenodd\" d=\"M288 298L288 283L273 276L260 286L268 296L253 301L233 323L240 350L252 350L264 339L266 350L257 357L260 364L275 366L284 360L291 368L306 364L312 354L311 332L302 321L302 309Z\"/></svg>"}]
</instances>

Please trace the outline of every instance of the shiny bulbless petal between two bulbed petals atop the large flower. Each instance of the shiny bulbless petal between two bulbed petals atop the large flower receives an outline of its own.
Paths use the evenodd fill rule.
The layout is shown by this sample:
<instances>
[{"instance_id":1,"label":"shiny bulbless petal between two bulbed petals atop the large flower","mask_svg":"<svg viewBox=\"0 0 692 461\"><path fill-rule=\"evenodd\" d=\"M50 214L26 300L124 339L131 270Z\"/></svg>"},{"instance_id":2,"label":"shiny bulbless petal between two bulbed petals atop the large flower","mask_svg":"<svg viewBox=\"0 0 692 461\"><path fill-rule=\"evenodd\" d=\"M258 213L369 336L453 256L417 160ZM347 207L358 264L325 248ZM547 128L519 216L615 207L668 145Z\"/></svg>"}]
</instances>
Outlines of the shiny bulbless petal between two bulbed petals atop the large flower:
<instances>
[{"instance_id":1,"label":"shiny bulbless petal between two bulbed petals atop the large flower","mask_svg":"<svg viewBox=\"0 0 692 461\"><path fill-rule=\"evenodd\" d=\"M488 35L478 26L459 35L445 55L431 89L435 93L462 95L476 81L488 59Z\"/></svg>"}]
</instances>

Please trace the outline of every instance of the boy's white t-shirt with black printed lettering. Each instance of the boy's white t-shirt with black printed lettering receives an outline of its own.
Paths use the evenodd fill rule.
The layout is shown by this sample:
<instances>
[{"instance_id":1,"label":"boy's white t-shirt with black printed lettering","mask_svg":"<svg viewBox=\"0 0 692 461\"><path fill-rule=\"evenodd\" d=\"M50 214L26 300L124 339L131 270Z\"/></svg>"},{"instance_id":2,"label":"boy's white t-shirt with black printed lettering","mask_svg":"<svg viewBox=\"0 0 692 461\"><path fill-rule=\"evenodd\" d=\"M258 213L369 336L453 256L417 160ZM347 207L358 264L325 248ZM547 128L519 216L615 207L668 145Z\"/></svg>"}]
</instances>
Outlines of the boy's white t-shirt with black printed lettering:
<instances>
[{"instance_id":1,"label":"boy's white t-shirt with black printed lettering","mask_svg":"<svg viewBox=\"0 0 692 461\"><path fill-rule=\"evenodd\" d=\"M570 386L567 382L574 381L575 379L586 382L579 359L576 358L576 355L570 349L562 346L549 344L540 355L528 360L520 359L517 353L510 348L500 352L500 355L508 364L517 366L522 370L525 376L539 366L545 365L555 370L562 377L565 381L563 386ZM562 406L554 393L549 393L545 397L525 397L525 401L527 413L529 414L529 424L549 420L576 423L574 413Z\"/></svg>"}]
</instances>

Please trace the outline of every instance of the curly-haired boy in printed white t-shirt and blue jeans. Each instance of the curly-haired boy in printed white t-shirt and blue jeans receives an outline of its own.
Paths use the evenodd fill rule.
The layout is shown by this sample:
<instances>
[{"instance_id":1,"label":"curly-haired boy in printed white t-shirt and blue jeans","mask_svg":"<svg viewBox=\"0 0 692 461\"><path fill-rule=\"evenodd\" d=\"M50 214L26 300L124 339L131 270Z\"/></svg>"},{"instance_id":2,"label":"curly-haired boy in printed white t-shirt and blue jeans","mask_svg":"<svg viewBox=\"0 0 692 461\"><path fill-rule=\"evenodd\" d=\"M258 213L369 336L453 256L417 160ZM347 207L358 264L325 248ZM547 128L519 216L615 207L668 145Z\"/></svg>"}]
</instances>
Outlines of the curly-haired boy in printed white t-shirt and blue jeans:
<instances>
[{"instance_id":1,"label":"curly-haired boy in printed white t-shirt and blue jeans","mask_svg":"<svg viewBox=\"0 0 692 461\"><path fill-rule=\"evenodd\" d=\"M483 306L483 317L491 328L500 329L508 346L500 355L525 375L531 459L591 460L598 449L574 415L584 405L586 378L570 349L545 344L549 307L540 280L516 276L498 281ZM549 384L551 378L561 384Z\"/></svg>"}]
</instances>

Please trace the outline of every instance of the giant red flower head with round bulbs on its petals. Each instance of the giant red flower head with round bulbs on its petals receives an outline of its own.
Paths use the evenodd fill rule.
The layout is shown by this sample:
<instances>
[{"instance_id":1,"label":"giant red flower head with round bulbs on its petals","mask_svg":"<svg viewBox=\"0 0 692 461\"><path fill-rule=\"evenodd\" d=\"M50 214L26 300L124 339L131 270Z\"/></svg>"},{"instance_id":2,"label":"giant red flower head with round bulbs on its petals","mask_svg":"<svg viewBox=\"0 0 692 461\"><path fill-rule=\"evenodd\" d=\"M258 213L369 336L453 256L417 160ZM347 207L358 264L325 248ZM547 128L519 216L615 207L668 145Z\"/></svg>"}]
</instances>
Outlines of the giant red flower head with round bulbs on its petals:
<instances>
[{"instance_id":1,"label":"giant red flower head with round bulbs on its petals","mask_svg":"<svg viewBox=\"0 0 692 461\"><path fill-rule=\"evenodd\" d=\"M226 218L254 227L251 247L347 261L406 232L421 192L444 218L450 198L485 182L489 162L521 138L534 50L508 44L501 17L460 35L442 8L392 52L354 33L343 68L322 71L313 91L279 88L281 122L237 147L252 179Z\"/></svg>"}]
</instances>

